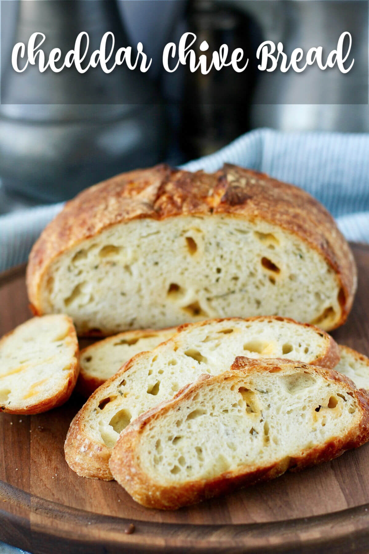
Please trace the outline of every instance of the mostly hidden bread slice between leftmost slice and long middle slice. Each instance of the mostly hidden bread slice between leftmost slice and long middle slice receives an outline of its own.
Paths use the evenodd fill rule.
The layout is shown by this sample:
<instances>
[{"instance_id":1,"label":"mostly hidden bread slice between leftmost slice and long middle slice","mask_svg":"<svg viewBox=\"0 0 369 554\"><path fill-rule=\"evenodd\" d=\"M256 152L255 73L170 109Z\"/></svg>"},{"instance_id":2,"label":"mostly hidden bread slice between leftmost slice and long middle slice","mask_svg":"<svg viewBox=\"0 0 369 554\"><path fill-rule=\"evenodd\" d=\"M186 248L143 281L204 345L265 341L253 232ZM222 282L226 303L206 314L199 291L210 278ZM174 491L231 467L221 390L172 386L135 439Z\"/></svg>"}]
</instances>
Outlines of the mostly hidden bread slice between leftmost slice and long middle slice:
<instances>
[{"instance_id":1,"label":"mostly hidden bread slice between leftmost slice and long middle slice","mask_svg":"<svg viewBox=\"0 0 369 554\"><path fill-rule=\"evenodd\" d=\"M176 330L177 327L159 331L153 329L126 331L87 346L80 353L78 391L89 397L133 356L139 352L153 350L160 342L172 337Z\"/></svg>"}]
</instances>

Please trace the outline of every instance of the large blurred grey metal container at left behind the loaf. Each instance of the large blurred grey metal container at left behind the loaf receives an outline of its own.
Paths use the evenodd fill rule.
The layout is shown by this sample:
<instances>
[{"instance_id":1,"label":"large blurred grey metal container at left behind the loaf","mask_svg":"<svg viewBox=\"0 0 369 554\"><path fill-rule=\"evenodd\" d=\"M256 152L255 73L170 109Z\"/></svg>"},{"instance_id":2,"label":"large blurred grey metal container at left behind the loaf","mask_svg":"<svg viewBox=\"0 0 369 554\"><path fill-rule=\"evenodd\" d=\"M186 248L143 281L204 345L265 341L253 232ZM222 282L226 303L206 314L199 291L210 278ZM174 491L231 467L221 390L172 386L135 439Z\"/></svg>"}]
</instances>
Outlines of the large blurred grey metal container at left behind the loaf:
<instances>
[{"instance_id":1,"label":"large blurred grey metal container at left behind the loaf","mask_svg":"<svg viewBox=\"0 0 369 554\"><path fill-rule=\"evenodd\" d=\"M89 33L91 52L107 30L116 44L129 45L113 0L5 2L2 29L3 60L10 60L10 45L27 44L36 30L64 54L81 30ZM0 177L6 189L65 200L121 171L153 165L164 152L163 107L146 74L125 66L110 74L40 74L29 66L17 74L3 64Z\"/></svg>"}]
</instances>

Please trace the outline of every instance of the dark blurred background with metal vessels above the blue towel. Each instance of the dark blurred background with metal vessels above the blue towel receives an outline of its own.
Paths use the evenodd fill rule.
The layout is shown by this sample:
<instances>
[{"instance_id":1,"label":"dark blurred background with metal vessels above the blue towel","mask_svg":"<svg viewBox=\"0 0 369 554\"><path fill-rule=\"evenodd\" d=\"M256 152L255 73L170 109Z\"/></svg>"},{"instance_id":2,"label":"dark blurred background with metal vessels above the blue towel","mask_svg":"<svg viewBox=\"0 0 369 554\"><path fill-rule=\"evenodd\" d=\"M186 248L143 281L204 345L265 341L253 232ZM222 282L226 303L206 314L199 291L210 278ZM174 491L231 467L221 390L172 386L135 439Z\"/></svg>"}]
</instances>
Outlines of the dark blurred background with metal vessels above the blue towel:
<instances>
[{"instance_id":1,"label":"dark blurred background with metal vessels above the blue towel","mask_svg":"<svg viewBox=\"0 0 369 554\"><path fill-rule=\"evenodd\" d=\"M58 202L116 173L167 161L180 165L214 152L237 136L283 131L369 130L367 2L324 0L9 0L1 12L0 214ZM15 42L42 30L43 48L72 48L80 30L91 48L112 30L117 46L141 41L153 58L148 73L73 70L59 74L9 66ZM204 76L162 66L165 43L196 33L207 54L226 43L249 65ZM256 49L266 39L286 52L354 37L354 70L261 73Z\"/></svg>"}]
</instances>

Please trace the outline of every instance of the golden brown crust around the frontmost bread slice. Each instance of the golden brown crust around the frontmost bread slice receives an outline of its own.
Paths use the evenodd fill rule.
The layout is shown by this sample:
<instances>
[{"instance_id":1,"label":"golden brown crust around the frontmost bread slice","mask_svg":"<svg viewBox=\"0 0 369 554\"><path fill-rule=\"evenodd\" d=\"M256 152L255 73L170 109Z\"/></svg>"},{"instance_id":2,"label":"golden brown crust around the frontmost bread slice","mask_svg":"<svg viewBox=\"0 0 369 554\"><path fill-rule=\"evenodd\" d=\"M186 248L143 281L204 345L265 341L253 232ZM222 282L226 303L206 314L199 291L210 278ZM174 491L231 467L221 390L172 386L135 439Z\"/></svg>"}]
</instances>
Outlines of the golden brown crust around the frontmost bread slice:
<instances>
[{"instance_id":1,"label":"golden brown crust around the frontmost bread slice","mask_svg":"<svg viewBox=\"0 0 369 554\"><path fill-rule=\"evenodd\" d=\"M268 467L253 468L252 470L240 467L237 470L227 471L216 478L208 480L193 480L183 484L159 486L141 468L136 455L142 430L150 422L162 417L165 413L178 406L185 398L193 396L201 387L204 378L210 383L221 382L225 378L235 376L242 377L252 371L254 367L260 367L261 363L265 371L282 371L283 367L294 365L295 368L303 368L310 373L318 373L324 378L339 381L354 397L361 409L360 423L355 428L347 430L343 437L335 437L329 443L302 451L299 456L287 457ZM358 391L345 376L334 370L306 365L299 362L286 362L285 360L249 360L238 357L231 370L216 377L204 376L195 383L186 386L176 397L168 402L150 409L128 425L119 435L110 459L110 468L115 479L131 494L140 504L163 510L177 509L178 507L195 504L222 493L230 492L241 486L253 485L261 481L273 479L285 473L285 471L299 471L311 465L328 461L340 456L345 450L357 448L369 440L369 397L363 391Z\"/></svg>"}]
</instances>

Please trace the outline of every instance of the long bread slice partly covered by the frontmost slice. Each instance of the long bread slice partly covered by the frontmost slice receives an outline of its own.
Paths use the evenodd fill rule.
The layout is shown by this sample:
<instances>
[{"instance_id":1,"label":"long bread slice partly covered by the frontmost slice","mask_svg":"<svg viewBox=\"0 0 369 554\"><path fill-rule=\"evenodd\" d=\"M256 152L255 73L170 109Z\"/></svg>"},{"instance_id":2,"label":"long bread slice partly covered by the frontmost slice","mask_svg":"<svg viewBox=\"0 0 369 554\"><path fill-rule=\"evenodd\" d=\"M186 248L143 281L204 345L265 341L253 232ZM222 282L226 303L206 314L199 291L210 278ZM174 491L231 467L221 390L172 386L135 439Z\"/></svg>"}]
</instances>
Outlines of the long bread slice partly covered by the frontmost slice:
<instances>
[{"instance_id":1,"label":"long bread slice partly covered by the frontmost slice","mask_svg":"<svg viewBox=\"0 0 369 554\"><path fill-rule=\"evenodd\" d=\"M334 367L339 350L316 327L282 317L210 320L181 327L178 334L129 360L99 387L73 419L65 458L77 474L111 479L108 460L128 423L168 400L201 373L218 375L238 355L285 357Z\"/></svg>"}]
</instances>

